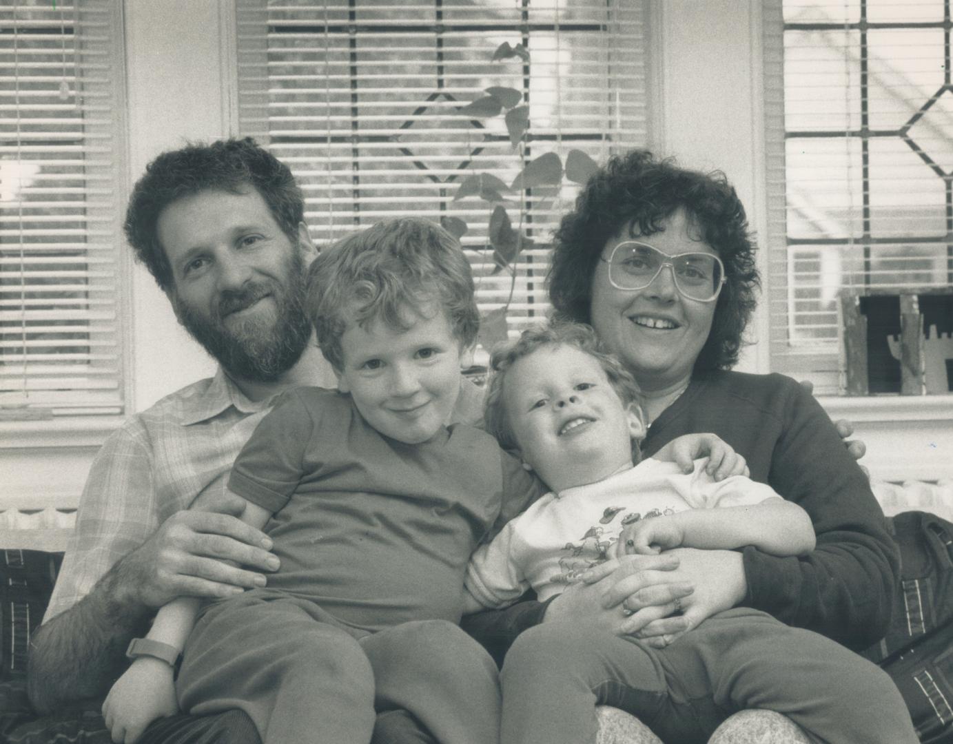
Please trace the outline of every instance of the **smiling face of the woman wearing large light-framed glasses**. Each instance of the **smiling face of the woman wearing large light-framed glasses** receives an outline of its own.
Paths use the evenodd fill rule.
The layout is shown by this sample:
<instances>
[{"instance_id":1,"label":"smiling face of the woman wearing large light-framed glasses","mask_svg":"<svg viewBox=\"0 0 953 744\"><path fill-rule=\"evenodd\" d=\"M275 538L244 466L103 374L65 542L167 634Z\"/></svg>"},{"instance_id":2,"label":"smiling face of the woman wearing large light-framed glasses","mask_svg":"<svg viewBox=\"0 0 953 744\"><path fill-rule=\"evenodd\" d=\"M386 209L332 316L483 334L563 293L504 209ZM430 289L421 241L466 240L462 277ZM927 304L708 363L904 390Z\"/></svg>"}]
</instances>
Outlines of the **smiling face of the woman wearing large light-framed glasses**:
<instances>
[{"instance_id":1,"label":"smiling face of the woman wearing large light-framed glasses","mask_svg":"<svg viewBox=\"0 0 953 744\"><path fill-rule=\"evenodd\" d=\"M628 226L602 249L608 259L623 240L638 238L663 253L704 252L718 255L698 237L683 210L663 222L663 231L640 238ZM635 376L644 391L687 382L695 360L708 340L715 302L690 300L679 294L670 269L662 269L648 287L618 290L609 283L609 265L598 262L592 279L590 315L602 343Z\"/></svg>"}]
</instances>

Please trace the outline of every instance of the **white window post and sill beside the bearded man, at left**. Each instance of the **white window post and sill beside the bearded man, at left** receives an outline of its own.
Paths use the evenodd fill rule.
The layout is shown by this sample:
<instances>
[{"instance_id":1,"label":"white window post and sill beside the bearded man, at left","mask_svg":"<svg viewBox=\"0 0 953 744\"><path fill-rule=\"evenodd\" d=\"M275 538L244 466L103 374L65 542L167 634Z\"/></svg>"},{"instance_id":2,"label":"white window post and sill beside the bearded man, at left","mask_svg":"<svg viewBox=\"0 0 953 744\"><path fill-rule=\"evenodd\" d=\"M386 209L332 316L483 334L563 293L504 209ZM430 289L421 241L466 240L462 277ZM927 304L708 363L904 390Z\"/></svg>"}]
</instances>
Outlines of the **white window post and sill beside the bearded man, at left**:
<instances>
[{"instance_id":1,"label":"white window post and sill beside the bearded man, at left","mask_svg":"<svg viewBox=\"0 0 953 744\"><path fill-rule=\"evenodd\" d=\"M233 0L124 0L127 183L160 151L227 136L233 95ZM156 60L163 60L157 65ZM210 60L217 64L210 65ZM191 95L183 95L187 84ZM217 102L217 103L216 103ZM125 203L125 198L118 201ZM125 415L210 376L214 363L178 326L152 275L120 251ZM176 350L170 354L169 350ZM91 461L125 415L0 421L0 510L74 507Z\"/></svg>"}]
</instances>

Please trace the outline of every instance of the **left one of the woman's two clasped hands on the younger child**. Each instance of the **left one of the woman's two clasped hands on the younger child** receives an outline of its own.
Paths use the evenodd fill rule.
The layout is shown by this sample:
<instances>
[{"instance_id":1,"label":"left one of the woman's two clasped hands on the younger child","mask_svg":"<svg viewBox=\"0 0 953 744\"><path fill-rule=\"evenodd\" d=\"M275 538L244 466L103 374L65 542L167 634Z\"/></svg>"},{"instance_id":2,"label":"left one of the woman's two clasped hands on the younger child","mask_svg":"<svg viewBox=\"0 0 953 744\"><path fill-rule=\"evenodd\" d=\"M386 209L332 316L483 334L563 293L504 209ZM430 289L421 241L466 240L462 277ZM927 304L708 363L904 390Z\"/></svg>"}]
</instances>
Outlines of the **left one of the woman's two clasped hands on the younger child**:
<instances>
[{"instance_id":1,"label":"left one of the woman's two clasped hands on the younger child","mask_svg":"<svg viewBox=\"0 0 953 744\"><path fill-rule=\"evenodd\" d=\"M691 583L679 579L678 568L675 553L610 559L550 602L543 622L568 619L607 633L631 633L626 628L632 627L630 621L639 611L653 610L638 617L637 622L648 623L675 612L676 603L695 591Z\"/></svg>"}]
</instances>

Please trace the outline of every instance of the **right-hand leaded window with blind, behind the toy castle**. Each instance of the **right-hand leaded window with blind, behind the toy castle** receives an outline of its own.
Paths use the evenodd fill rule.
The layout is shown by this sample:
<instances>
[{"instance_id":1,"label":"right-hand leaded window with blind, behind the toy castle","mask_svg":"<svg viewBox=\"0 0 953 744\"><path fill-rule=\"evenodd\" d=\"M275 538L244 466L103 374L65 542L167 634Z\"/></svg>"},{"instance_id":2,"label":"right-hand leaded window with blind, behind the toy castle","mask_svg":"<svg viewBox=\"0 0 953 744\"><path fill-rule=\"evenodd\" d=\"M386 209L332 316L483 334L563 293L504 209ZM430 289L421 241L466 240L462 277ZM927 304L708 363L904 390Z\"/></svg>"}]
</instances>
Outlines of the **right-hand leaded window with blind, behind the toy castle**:
<instances>
[{"instance_id":1,"label":"right-hand leaded window with blind, behind the toy castle","mask_svg":"<svg viewBox=\"0 0 953 744\"><path fill-rule=\"evenodd\" d=\"M764 18L772 367L837 394L841 292L923 291L926 330L953 330L929 293L953 287L950 2L769 0ZM893 392L875 377L899 384L899 308L878 303L870 392Z\"/></svg>"}]
</instances>

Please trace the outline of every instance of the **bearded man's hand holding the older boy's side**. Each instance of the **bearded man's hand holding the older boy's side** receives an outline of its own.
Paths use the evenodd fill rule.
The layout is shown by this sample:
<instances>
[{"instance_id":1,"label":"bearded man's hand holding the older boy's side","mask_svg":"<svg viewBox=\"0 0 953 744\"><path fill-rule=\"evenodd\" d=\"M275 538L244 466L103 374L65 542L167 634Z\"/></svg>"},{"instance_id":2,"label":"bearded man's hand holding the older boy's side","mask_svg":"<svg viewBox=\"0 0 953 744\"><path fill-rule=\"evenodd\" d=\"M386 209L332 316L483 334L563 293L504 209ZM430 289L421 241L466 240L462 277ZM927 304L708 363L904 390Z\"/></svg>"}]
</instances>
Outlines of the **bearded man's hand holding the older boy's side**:
<instances>
[{"instance_id":1,"label":"bearded man's hand holding the older boy's side","mask_svg":"<svg viewBox=\"0 0 953 744\"><path fill-rule=\"evenodd\" d=\"M272 541L239 519L245 501L225 494L213 504L172 514L139 548L116 566L117 592L132 592L147 607L178 596L223 597L264 586L278 569ZM232 565L237 564L237 565Z\"/></svg>"}]
</instances>

